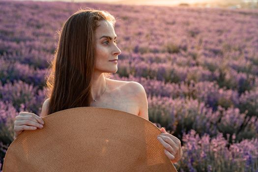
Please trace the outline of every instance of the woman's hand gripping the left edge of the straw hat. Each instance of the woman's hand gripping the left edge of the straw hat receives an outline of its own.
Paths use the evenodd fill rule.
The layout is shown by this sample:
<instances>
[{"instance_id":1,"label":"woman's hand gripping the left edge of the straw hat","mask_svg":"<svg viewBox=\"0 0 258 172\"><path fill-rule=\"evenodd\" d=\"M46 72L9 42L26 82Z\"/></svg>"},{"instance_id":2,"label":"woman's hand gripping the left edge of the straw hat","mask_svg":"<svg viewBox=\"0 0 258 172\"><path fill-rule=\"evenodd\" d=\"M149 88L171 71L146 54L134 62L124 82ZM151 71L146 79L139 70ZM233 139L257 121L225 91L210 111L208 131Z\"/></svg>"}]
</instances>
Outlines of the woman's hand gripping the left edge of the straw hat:
<instances>
[{"instance_id":1,"label":"woman's hand gripping the left edge of the straw hat","mask_svg":"<svg viewBox=\"0 0 258 172\"><path fill-rule=\"evenodd\" d=\"M38 115L29 112L20 112L14 121L14 137L16 139L24 130L42 129L43 125L44 120Z\"/></svg>"}]
</instances>

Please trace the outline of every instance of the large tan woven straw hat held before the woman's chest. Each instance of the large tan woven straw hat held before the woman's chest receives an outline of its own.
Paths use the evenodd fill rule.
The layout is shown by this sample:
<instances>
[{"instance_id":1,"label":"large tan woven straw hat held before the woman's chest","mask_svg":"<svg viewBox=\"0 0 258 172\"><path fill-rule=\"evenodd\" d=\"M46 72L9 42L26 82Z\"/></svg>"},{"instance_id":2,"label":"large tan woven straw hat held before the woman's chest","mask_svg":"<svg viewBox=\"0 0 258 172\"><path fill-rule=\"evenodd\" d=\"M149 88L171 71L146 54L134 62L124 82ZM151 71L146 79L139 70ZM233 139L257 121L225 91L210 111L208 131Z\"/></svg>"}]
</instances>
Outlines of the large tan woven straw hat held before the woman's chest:
<instances>
[{"instance_id":1,"label":"large tan woven straw hat held before the woman's chest","mask_svg":"<svg viewBox=\"0 0 258 172\"><path fill-rule=\"evenodd\" d=\"M177 172L160 129L114 109L80 107L42 118L8 147L3 172Z\"/></svg>"}]
</instances>

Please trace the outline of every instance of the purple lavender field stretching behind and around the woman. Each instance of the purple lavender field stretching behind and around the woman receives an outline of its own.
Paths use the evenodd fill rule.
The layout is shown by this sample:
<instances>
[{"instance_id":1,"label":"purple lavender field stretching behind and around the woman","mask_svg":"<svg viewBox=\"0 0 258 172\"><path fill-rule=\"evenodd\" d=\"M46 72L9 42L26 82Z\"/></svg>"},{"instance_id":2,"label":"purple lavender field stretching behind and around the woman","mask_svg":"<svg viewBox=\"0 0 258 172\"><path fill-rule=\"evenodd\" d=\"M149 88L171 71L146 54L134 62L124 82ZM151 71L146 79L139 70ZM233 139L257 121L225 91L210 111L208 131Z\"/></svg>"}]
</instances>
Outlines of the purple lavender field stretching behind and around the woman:
<instances>
[{"instance_id":1,"label":"purple lavender field stretching behind and around the woman","mask_svg":"<svg viewBox=\"0 0 258 172\"><path fill-rule=\"evenodd\" d=\"M181 140L178 172L258 172L258 10L0 1L0 164L20 111L40 115L57 30L86 7L116 18L118 71Z\"/></svg>"}]
</instances>

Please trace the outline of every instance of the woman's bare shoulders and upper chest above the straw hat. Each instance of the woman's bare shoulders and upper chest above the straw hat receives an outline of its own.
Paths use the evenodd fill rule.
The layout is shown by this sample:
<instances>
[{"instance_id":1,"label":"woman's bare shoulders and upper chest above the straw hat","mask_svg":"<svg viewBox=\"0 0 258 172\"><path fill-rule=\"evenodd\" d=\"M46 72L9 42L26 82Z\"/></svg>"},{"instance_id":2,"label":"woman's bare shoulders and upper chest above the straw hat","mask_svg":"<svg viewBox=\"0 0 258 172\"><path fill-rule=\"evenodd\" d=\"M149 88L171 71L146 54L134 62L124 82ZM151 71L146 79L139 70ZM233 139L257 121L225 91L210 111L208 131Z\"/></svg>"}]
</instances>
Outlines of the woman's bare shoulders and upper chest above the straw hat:
<instances>
[{"instance_id":1,"label":"woman's bare shoulders and upper chest above the straw hat","mask_svg":"<svg viewBox=\"0 0 258 172\"><path fill-rule=\"evenodd\" d=\"M103 95L90 103L91 107L102 107L139 115L148 120L148 103L143 86L137 82L107 80ZM47 116L49 99L42 106L41 116Z\"/></svg>"}]
</instances>

